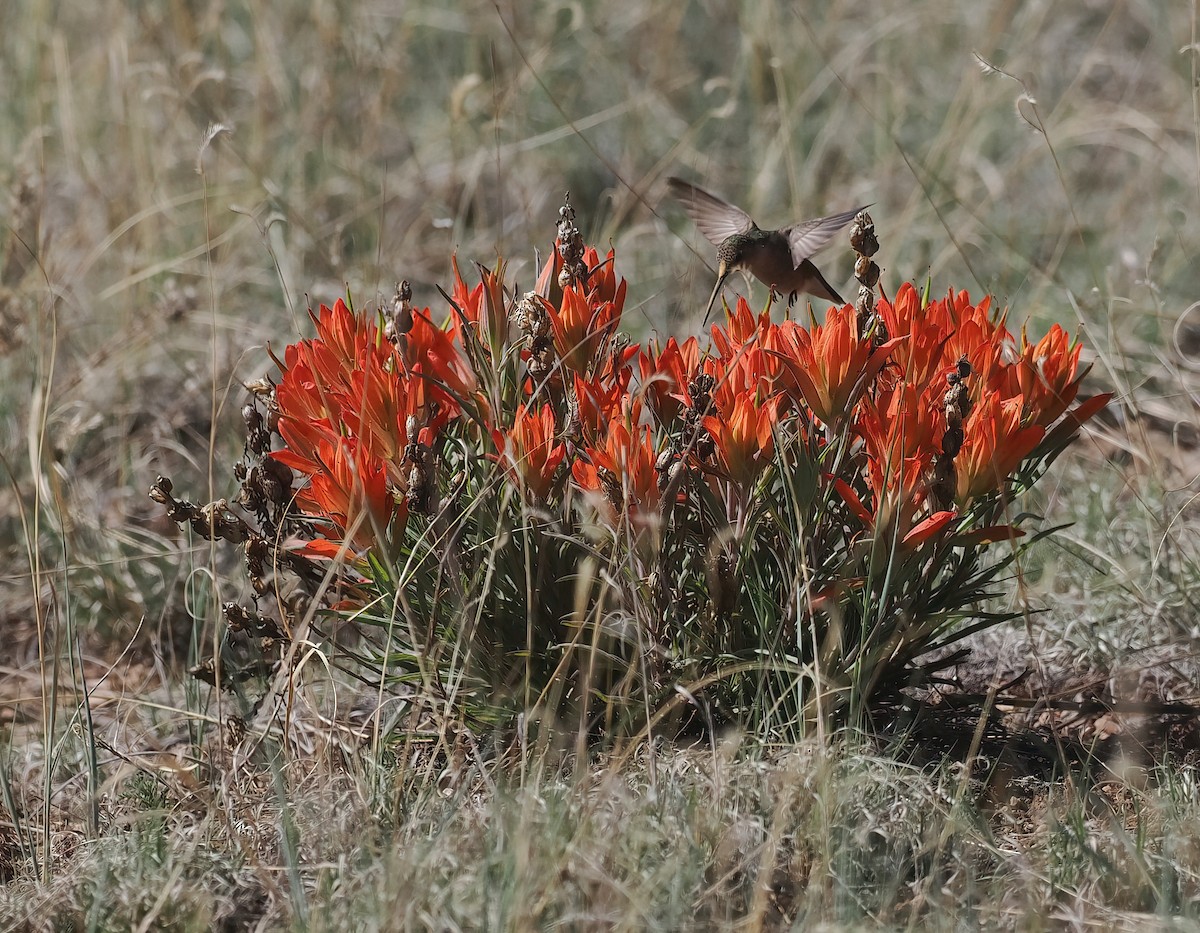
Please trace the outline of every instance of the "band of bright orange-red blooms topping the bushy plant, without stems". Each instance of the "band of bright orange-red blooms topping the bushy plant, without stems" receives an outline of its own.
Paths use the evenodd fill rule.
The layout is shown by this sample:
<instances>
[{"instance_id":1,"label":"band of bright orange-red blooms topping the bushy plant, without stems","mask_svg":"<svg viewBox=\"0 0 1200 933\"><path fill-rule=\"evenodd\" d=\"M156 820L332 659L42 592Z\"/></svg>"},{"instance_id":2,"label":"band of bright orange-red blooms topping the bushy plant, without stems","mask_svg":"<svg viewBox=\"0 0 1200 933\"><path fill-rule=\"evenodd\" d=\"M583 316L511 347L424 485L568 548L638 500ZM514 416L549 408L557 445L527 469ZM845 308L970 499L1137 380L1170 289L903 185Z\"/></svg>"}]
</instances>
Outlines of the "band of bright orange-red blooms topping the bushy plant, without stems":
<instances>
[{"instance_id":1,"label":"band of bright orange-red blooms topping the bushy plant, without stems","mask_svg":"<svg viewBox=\"0 0 1200 933\"><path fill-rule=\"evenodd\" d=\"M818 457L832 444L846 451L852 475L829 481L865 526L886 516L906 536L1004 490L1079 393L1080 345L1060 326L1037 343L1024 331L1016 339L988 299L972 303L965 291L923 302L906 283L880 300L878 333L859 333L850 306L802 325L773 321L769 306L755 315L739 299L725 326L713 325L707 351L696 337L634 347L618 339L625 282L612 253L601 260L586 249L582 263L584 277L556 288L552 259L541 291L520 302L503 266L482 270L472 289L456 263L446 325L413 311L391 339L378 314L322 306L316 338L288 347L281 363L286 446L275 457L308 478L298 505L328 520L328 537L359 549L391 540L418 493L419 451L462 428L467 409L487 426L486 453L529 501L562 501L574 484L613 529L661 520L686 493L680 471L745 507L776 438L791 432L808 435ZM526 374L505 417L480 393L485 374L473 366L504 353L510 317L523 331ZM948 387L962 396L953 450ZM1105 401L1088 399L1066 426ZM953 476L942 495L940 463Z\"/></svg>"}]
</instances>

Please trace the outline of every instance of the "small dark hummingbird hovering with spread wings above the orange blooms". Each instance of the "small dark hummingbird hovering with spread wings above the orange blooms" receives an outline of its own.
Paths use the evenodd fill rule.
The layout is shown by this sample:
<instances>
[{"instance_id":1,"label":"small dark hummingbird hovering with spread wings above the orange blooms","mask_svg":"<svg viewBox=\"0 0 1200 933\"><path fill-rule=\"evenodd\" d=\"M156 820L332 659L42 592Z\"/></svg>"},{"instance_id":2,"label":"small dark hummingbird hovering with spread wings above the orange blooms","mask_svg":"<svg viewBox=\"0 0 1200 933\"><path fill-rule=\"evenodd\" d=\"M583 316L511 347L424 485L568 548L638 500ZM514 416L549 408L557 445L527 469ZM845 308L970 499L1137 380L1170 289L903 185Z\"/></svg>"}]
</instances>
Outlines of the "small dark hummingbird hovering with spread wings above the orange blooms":
<instances>
[{"instance_id":1,"label":"small dark hummingbird hovering with spread wings above the orange blooms","mask_svg":"<svg viewBox=\"0 0 1200 933\"><path fill-rule=\"evenodd\" d=\"M773 291L787 295L788 306L802 291L836 305L845 303L809 257L829 242L863 207L802 221L779 230L761 230L740 207L683 179L667 179L667 187L700 231L716 247L716 285L708 299L706 323L721 285L737 270L745 270Z\"/></svg>"}]
</instances>

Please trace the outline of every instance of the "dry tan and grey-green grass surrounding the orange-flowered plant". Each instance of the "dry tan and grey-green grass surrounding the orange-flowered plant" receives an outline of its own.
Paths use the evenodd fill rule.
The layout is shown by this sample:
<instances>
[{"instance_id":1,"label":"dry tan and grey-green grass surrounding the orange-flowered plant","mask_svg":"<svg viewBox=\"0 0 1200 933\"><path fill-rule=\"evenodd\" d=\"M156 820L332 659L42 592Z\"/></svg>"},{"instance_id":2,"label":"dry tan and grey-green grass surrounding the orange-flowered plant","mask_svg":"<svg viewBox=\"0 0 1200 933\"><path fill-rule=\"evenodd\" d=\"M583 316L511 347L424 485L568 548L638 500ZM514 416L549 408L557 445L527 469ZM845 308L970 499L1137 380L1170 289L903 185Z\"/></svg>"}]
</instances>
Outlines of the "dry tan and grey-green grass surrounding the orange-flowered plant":
<instances>
[{"instance_id":1,"label":"dry tan and grey-green grass surrounding the orange-flowered plant","mask_svg":"<svg viewBox=\"0 0 1200 933\"><path fill-rule=\"evenodd\" d=\"M184 670L238 567L164 522L155 474L230 493L239 380L305 332L307 300L404 277L434 303L454 249L530 282L564 188L587 239L618 247L630 326L694 329L710 258L660 203L673 173L768 223L874 201L889 290L929 276L1078 325L1118 404L1036 504L1076 524L1013 582L1049 607L1028 621L1043 650L1007 650L1190 663L1194 12L785 6L6 10L0 926L1196 922L1200 807L1177 760L989 782L731 738L499 766L360 746L319 718L344 726L353 703L319 685L283 748L193 744L228 710ZM835 283L847 255L827 254Z\"/></svg>"}]
</instances>

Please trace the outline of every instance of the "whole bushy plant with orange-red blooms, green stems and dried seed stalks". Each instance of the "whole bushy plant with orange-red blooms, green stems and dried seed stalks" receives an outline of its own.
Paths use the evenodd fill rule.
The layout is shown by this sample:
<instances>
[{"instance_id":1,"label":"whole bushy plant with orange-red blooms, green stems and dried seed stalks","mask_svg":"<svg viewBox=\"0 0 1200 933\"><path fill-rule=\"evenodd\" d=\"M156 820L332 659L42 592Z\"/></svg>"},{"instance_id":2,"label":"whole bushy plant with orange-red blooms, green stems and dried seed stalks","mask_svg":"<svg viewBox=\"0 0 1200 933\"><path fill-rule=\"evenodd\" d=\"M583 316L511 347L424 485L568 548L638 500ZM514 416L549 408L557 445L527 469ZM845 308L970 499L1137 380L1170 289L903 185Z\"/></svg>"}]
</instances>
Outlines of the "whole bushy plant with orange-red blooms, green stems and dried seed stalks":
<instances>
[{"instance_id":1,"label":"whole bushy plant with orange-red blooms, green stems and dried seed stalks","mask_svg":"<svg viewBox=\"0 0 1200 933\"><path fill-rule=\"evenodd\" d=\"M402 283L312 313L244 410L245 518L155 495L246 549L259 604L226 618L277 676L300 625L349 628L338 663L402 691L409 727L857 720L1012 618L988 598L1045 534L1020 496L1108 396L1076 404L1057 325L876 299L865 212L851 242L854 307L776 323L738 299L704 344L638 345L564 204L532 291L452 260L440 311Z\"/></svg>"}]
</instances>

